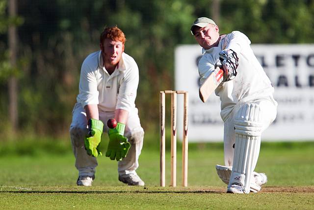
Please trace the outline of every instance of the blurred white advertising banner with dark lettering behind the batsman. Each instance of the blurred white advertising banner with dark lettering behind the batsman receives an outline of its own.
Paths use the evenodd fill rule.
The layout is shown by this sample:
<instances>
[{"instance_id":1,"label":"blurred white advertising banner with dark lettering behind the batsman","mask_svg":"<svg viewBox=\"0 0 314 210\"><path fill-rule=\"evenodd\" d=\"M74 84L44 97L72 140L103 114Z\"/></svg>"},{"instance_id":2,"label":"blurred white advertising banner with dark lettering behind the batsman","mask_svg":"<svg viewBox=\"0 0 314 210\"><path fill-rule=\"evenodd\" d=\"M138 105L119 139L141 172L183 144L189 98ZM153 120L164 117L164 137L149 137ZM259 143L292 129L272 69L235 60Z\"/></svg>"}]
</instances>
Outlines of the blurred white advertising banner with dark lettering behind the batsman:
<instances>
[{"instance_id":1,"label":"blurred white advertising banner with dark lettering behind the batsman","mask_svg":"<svg viewBox=\"0 0 314 210\"><path fill-rule=\"evenodd\" d=\"M314 141L314 45L251 45L275 87L276 120L263 132L263 141ZM175 50L175 88L189 92L190 142L223 140L220 100L214 93L206 103L198 95L199 45ZM182 139L183 96L178 95L178 137Z\"/></svg>"}]
</instances>

